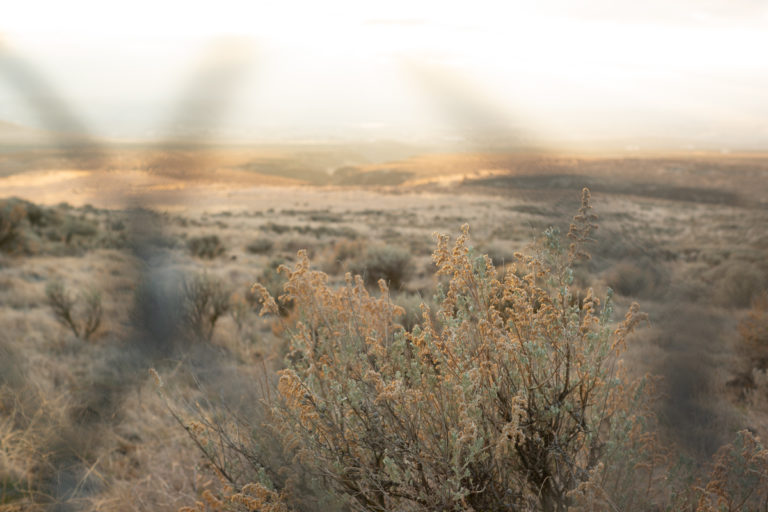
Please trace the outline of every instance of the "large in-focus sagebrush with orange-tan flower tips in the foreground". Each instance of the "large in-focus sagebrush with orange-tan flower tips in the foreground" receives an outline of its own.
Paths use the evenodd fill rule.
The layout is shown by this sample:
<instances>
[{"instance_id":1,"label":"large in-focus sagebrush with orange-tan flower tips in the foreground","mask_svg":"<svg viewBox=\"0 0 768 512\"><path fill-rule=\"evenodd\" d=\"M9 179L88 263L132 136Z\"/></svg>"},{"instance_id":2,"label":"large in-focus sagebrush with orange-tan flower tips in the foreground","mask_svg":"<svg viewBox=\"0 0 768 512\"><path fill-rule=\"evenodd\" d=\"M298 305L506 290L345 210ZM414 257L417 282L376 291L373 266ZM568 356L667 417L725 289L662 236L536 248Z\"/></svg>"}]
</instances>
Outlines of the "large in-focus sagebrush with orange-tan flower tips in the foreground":
<instances>
[{"instance_id":1,"label":"large in-focus sagebrush with orange-tan flower tips in the foreground","mask_svg":"<svg viewBox=\"0 0 768 512\"><path fill-rule=\"evenodd\" d=\"M618 359L643 315L633 305L613 329L610 299L572 296L590 209L585 191L570 247L550 230L503 280L467 227L452 246L440 236L438 321L425 310L410 332L383 279L380 297L359 276L333 289L300 253L272 410L287 446L360 510L565 510L585 484L604 489L606 465L644 456L645 395Z\"/></svg>"}]
</instances>

